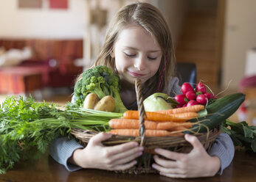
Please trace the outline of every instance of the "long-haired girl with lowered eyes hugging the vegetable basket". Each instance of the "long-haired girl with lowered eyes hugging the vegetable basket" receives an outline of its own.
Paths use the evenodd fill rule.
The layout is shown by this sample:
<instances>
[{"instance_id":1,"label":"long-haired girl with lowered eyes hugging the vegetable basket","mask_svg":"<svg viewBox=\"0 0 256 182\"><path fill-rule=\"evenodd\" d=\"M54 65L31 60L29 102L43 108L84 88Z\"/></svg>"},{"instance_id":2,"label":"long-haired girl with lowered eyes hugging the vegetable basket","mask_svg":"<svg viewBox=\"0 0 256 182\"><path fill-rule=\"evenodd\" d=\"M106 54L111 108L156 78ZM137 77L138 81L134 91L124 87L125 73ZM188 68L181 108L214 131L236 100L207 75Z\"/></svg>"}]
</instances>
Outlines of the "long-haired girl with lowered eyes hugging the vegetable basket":
<instances>
[{"instance_id":1,"label":"long-haired girl with lowered eyes hugging the vegetable basket","mask_svg":"<svg viewBox=\"0 0 256 182\"><path fill-rule=\"evenodd\" d=\"M136 2L117 12L106 32L96 65L106 65L120 76L120 95L128 109L137 109L136 78L142 80L144 98L153 92L168 95L181 92L179 80L174 77L176 64L170 30L161 12L151 4ZM103 146L101 142L110 137L108 133L97 134L86 148L75 139L55 139L50 154L69 171L81 168L126 170L133 167L143 148L136 142ZM190 153L156 148L159 155L154 156L152 167L159 170L160 175L173 178L212 176L217 172L221 174L232 161L234 147L227 134L218 136L209 153L196 136L186 134L185 139L193 145Z\"/></svg>"}]
</instances>

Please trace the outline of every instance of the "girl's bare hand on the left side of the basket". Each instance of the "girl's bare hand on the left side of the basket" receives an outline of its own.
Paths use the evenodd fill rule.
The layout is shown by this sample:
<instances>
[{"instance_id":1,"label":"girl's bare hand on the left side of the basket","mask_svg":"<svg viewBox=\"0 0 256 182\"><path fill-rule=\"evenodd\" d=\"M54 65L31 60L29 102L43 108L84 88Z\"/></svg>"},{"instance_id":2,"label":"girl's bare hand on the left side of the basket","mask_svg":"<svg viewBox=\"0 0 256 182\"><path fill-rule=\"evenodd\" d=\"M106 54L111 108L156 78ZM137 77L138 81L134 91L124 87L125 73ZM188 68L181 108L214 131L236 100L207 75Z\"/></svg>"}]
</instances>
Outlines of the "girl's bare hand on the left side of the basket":
<instances>
[{"instance_id":1,"label":"girl's bare hand on the left side of the basket","mask_svg":"<svg viewBox=\"0 0 256 182\"><path fill-rule=\"evenodd\" d=\"M100 133L89 140L86 148L77 149L69 160L83 168L102 170L126 170L136 164L136 157L142 155L142 147L137 142L105 147L101 142L111 134Z\"/></svg>"}]
</instances>

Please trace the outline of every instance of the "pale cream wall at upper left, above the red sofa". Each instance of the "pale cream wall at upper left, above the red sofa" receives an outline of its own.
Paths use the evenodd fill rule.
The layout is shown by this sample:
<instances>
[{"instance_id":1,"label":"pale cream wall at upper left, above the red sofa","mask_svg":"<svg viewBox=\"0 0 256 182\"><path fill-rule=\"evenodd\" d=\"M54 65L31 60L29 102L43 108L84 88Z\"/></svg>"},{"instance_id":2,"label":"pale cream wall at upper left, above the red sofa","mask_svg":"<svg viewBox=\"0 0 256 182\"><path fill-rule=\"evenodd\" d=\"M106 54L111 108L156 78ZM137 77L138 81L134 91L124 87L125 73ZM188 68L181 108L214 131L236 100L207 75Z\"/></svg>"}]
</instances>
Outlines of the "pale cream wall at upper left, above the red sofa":
<instances>
[{"instance_id":1,"label":"pale cream wall at upper left, above the red sofa","mask_svg":"<svg viewBox=\"0 0 256 182\"><path fill-rule=\"evenodd\" d=\"M69 0L68 10L18 9L18 0L0 0L0 37L81 38L85 1Z\"/></svg>"}]
</instances>

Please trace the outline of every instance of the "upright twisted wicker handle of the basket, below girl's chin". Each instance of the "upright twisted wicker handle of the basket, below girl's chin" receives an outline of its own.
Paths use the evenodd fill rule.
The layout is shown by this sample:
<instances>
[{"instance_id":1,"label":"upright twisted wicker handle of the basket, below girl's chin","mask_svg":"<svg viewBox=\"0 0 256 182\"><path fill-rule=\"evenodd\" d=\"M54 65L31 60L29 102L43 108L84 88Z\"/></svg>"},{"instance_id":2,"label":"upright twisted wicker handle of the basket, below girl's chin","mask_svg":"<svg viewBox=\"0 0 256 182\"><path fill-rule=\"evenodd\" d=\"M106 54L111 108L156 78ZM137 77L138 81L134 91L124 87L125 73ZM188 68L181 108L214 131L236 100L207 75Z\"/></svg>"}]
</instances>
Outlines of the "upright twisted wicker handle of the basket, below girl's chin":
<instances>
[{"instance_id":1,"label":"upright twisted wicker handle of the basket, below girl's chin","mask_svg":"<svg viewBox=\"0 0 256 182\"><path fill-rule=\"evenodd\" d=\"M141 80L135 80L135 91L136 91L136 100L139 110L139 136L141 136L140 146L145 146L145 109L143 106L143 95L142 95L142 87Z\"/></svg>"}]
</instances>

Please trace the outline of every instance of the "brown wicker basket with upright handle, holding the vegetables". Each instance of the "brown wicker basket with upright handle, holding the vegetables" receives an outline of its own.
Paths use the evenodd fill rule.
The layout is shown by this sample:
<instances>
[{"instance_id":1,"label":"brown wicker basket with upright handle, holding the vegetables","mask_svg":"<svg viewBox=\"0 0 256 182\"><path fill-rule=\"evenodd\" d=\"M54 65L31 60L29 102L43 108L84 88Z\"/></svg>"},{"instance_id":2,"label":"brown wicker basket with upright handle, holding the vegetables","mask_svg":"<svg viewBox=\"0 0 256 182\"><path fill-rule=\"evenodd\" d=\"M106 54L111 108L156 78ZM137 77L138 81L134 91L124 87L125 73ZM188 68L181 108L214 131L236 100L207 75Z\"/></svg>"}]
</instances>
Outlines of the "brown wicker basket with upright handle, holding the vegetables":
<instances>
[{"instance_id":1,"label":"brown wicker basket with upright handle, holding the vegetables","mask_svg":"<svg viewBox=\"0 0 256 182\"><path fill-rule=\"evenodd\" d=\"M157 171L151 167L153 162L153 151L154 148L165 148L168 150L173 150L175 152L187 153L193 149L192 145L184 139L184 136L159 136L159 137L148 137L145 136L145 126L144 126L144 116L145 110L143 107L143 98L142 90L140 87L140 80L136 80L136 99L139 108L139 133L140 136L121 136L121 135L112 135L110 139L105 140L103 145L113 146L120 145L125 142L139 142L141 146L145 148L144 153L137 160L138 163L135 167L132 167L128 170L119 170L115 172L130 173L130 174L140 174L140 173L156 173ZM92 136L98 134L97 131L84 131L82 129L72 129L71 134L73 134L77 139L83 143L84 146L87 145L89 139ZM199 141L204 148L210 150L212 143L215 141L215 138L221 133L220 128L215 128L207 133L195 133L194 136L197 136Z\"/></svg>"}]
</instances>

